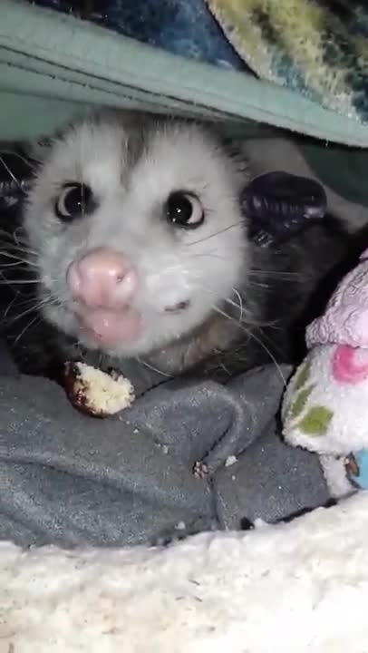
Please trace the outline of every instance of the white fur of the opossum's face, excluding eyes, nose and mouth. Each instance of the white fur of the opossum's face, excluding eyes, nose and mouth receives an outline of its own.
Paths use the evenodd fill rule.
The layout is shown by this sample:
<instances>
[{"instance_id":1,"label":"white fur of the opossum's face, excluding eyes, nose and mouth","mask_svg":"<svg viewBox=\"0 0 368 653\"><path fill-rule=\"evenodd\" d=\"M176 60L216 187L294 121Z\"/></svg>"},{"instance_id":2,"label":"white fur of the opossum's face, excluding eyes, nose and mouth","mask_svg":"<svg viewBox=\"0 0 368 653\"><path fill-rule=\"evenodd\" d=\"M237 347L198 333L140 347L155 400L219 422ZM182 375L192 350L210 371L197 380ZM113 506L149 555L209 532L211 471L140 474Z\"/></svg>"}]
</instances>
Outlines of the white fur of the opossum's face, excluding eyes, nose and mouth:
<instances>
[{"instance_id":1,"label":"white fur of the opossum's face, excluding eyes, nose and mouth","mask_svg":"<svg viewBox=\"0 0 368 653\"><path fill-rule=\"evenodd\" d=\"M137 132L138 130L138 132ZM139 133L137 155L130 134ZM143 147L141 145L143 144ZM98 200L92 215L63 223L54 212L66 181L91 187ZM121 342L112 356L147 355L202 324L213 306L225 307L247 278L247 238L238 206L235 161L199 125L150 121L143 116L102 113L77 123L53 141L30 192L24 227L41 280L44 316L86 346L74 313L66 271L90 249L111 247L138 270L131 302L142 331ZM205 220L180 229L165 219L173 190L195 193ZM167 306L190 300L178 314ZM55 302L56 300L56 302Z\"/></svg>"}]
</instances>

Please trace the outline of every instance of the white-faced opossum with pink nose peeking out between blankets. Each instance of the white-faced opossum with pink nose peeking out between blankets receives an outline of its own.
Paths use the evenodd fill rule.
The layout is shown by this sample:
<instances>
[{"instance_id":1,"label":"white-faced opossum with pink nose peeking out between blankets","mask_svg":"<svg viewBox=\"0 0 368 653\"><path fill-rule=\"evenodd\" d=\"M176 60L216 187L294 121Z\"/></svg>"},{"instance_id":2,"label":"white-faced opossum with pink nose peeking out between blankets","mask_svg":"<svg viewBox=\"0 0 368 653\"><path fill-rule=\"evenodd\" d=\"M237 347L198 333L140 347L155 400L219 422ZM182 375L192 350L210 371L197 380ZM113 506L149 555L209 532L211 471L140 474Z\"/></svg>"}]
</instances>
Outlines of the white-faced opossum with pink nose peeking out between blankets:
<instances>
[{"instance_id":1,"label":"white-faced opossum with pink nose peeking out between blankets","mask_svg":"<svg viewBox=\"0 0 368 653\"><path fill-rule=\"evenodd\" d=\"M102 110L35 160L12 249L29 304L6 310L25 371L139 358L165 376L232 375L302 356L347 232L325 219L280 247L252 242L252 172L216 126Z\"/></svg>"}]
</instances>

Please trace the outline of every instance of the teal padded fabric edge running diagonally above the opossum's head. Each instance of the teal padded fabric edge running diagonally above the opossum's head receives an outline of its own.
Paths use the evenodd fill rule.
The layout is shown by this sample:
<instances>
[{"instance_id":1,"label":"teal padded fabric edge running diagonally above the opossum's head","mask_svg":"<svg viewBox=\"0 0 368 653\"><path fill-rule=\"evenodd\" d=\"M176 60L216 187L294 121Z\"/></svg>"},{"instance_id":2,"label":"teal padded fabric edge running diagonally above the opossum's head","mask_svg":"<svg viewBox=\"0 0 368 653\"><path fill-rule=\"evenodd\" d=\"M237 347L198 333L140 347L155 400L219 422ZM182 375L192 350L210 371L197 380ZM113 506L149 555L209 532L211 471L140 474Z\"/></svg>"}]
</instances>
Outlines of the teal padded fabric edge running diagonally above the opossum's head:
<instances>
[{"instance_id":1,"label":"teal padded fabric edge running diagonally above the opossum's head","mask_svg":"<svg viewBox=\"0 0 368 653\"><path fill-rule=\"evenodd\" d=\"M1 93L5 92L7 101ZM48 102L47 129L77 105L152 108L208 118L250 119L324 141L368 147L368 127L327 111L298 93L244 73L159 49L19 0L0 1L0 139L16 133L10 98L19 96L23 131L35 131ZM33 98L38 98L36 101ZM44 98L44 105L43 105ZM67 101L71 104L68 105ZM8 102L6 104L6 102ZM22 119L22 111L18 115Z\"/></svg>"}]
</instances>

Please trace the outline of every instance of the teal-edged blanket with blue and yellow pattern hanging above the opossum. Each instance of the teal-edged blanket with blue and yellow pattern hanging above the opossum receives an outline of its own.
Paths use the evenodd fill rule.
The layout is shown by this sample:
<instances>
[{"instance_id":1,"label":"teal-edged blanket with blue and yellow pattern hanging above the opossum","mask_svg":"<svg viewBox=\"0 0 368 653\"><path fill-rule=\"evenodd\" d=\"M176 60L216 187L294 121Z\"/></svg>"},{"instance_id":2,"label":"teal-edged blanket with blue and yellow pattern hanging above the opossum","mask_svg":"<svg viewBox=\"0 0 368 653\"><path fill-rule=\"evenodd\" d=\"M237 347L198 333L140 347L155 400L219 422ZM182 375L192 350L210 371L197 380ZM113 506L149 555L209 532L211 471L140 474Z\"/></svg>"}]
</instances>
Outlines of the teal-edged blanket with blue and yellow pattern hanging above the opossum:
<instances>
[{"instance_id":1,"label":"teal-edged blanket with blue and yellow pattern hanging above the opossum","mask_svg":"<svg viewBox=\"0 0 368 653\"><path fill-rule=\"evenodd\" d=\"M367 206L367 19L358 0L2 0L0 141L95 104L283 128Z\"/></svg>"}]
</instances>

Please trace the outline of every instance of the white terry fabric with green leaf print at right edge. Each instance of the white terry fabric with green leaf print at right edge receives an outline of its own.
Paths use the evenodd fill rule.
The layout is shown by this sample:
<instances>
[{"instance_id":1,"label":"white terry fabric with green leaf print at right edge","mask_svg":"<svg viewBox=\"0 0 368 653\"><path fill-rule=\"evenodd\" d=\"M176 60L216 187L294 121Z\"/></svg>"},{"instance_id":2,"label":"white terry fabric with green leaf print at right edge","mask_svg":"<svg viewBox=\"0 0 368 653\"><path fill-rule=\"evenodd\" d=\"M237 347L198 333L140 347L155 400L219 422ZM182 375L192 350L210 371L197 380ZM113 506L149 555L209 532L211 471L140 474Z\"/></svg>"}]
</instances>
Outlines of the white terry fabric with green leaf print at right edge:
<instances>
[{"instance_id":1,"label":"white terry fabric with green leaf print at right edge","mask_svg":"<svg viewBox=\"0 0 368 653\"><path fill-rule=\"evenodd\" d=\"M365 376L355 381L334 375L336 356L342 346L315 346L289 383L284 402L286 442L321 455L324 475L333 496L365 486L359 464L348 456L368 447L367 355L352 349L355 365ZM365 360L360 353L363 351ZM350 365L353 366L353 365Z\"/></svg>"}]
</instances>

